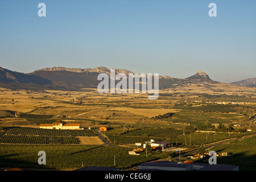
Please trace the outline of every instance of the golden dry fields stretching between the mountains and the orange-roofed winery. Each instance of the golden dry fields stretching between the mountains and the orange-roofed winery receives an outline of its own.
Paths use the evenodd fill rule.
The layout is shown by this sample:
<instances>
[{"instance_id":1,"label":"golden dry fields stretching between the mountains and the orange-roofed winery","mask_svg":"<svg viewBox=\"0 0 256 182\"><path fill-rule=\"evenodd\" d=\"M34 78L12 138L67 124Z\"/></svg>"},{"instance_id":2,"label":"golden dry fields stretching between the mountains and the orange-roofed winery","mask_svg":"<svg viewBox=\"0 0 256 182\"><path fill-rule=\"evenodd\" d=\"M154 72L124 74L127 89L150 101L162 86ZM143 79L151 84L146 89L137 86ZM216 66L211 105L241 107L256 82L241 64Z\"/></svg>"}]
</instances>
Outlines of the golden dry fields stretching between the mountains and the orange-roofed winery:
<instances>
[{"instance_id":1,"label":"golden dry fields stretching between the mountains and the orange-roofed winery","mask_svg":"<svg viewBox=\"0 0 256 182\"><path fill-rule=\"evenodd\" d=\"M67 92L60 90L13 91L0 89L0 110L20 113L53 115L52 119L64 122L79 122L81 127L100 127L108 124L147 124L156 123L158 115L179 113L182 109L174 106L180 102L193 101L245 101L255 105L256 88L232 84L187 84L159 90L157 100L148 100L147 94L99 94L97 89L84 89L83 92ZM203 96L207 95L207 98ZM216 96L228 96L223 99ZM213 96L210 98L209 96ZM230 99L229 99L230 97ZM234 97L234 98L233 98ZM205 103L193 104L193 107ZM66 115L67 118L56 118ZM102 124L103 123L103 124ZM162 121L162 124L166 123ZM0 126L31 126L37 125L22 118L0 120Z\"/></svg>"}]
</instances>

